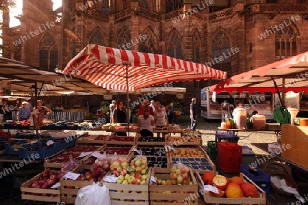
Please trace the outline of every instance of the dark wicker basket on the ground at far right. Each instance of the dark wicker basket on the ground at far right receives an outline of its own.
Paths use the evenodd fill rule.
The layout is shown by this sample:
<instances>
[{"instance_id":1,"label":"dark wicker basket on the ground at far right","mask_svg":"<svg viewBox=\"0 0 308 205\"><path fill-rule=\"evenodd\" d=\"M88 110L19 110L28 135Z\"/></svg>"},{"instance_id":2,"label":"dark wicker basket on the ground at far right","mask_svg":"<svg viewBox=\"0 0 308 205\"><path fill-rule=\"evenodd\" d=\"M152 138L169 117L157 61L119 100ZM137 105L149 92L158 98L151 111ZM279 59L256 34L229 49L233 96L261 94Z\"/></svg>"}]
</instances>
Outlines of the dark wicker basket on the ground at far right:
<instances>
[{"instance_id":1,"label":"dark wicker basket on the ground at far right","mask_svg":"<svg viewBox=\"0 0 308 205\"><path fill-rule=\"evenodd\" d=\"M287 186L296 188L296 190L298 190L296 182L291 177L292 174L291 175L289 174L289 171L287 170L287 168L283 166L283 164L269 163L268 165L264 167L264 172L270 174L270 176L278 176L279 178L284 179ZM293 196L293 193L287 193L283 191L282 189L279 189L278 187L276 187L273 183L271 183L271 185L272 185L272 190L274 192L280 195Z\"/></svg>"}]
</instances>

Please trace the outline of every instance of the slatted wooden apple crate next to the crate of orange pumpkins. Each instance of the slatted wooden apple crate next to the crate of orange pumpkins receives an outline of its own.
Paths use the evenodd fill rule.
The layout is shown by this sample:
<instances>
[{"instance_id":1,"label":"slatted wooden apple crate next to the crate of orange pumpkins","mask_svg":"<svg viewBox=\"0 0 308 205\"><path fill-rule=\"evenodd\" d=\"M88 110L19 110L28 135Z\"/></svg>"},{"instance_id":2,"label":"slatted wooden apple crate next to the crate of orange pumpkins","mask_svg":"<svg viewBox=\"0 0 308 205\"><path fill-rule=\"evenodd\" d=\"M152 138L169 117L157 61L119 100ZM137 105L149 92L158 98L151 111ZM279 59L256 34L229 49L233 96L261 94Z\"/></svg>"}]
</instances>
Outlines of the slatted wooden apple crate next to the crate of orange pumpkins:
<instances>
[{"instance_id":1,"label":"slatted wooden apple crate next to the crate of orange pumpkins","mask_svg":"<svg viewBox=\"0 0 308 205\"><path fill-rule=\"evenodd\" d=\"M170 179L170 168L152 168L151 176L157 176L157 178L162 180ZM150 204L151 205L168 205L173 201L182 201L182 203L177 203L179 205L186 204L190 201L190 204L198 205L198 197L192 199L191 195L194 195L198 192L198 184L196 178L190 169L190 178L193 185L157 185L150 182L149 191L150 191ZM172 191L173 193L162 193L164 191ZM185 191L183 193L182 191ZM189 200L192 199L192 200ZM188 200L186 203L183 200Z\"/></svg>"}]
</instances>

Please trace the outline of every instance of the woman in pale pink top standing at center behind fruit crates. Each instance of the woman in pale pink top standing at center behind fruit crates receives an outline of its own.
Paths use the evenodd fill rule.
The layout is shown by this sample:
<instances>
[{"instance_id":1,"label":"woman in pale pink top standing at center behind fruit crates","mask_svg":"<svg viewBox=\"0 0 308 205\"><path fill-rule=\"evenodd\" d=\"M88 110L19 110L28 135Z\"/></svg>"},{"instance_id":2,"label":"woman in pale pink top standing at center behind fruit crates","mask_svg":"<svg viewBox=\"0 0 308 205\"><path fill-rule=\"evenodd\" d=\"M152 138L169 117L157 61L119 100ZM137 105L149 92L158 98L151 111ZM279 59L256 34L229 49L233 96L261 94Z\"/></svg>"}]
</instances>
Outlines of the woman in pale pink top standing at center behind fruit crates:
<instances>
[{"instance_id":1,"label":"woman in pale pink top standing at center behind fruit crates","mask_svg":"<svg viewBox=\"0 0 308 205\"><path fill-rule=\"evenodd\" d=\"M153 137L154 117L150 115L149 105L144 105L143 115L138 116L138 126L142 137Z\"/></svg>"}]
</instances>

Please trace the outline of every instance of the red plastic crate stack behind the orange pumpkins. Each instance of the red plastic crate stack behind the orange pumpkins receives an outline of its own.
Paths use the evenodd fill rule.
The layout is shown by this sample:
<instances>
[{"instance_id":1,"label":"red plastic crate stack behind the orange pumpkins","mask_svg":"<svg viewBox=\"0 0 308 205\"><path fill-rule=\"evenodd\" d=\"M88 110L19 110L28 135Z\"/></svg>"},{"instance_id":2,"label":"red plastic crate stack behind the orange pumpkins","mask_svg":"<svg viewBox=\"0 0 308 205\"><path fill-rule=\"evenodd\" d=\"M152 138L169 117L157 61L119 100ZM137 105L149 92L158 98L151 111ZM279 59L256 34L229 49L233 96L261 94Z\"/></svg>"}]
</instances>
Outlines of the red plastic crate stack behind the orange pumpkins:
<instances>
[{"instance_id":1,"label":"red plastic crate stack behind the orange pumpkins","mask_svg":"<svg viewBox=\"0 0 308 205\"><path fill-rule=\"evenodd\" d=\"M218 142L217 163L222 172L240 172L242 146L235 142Z\"/></svg>"}]
</instances>

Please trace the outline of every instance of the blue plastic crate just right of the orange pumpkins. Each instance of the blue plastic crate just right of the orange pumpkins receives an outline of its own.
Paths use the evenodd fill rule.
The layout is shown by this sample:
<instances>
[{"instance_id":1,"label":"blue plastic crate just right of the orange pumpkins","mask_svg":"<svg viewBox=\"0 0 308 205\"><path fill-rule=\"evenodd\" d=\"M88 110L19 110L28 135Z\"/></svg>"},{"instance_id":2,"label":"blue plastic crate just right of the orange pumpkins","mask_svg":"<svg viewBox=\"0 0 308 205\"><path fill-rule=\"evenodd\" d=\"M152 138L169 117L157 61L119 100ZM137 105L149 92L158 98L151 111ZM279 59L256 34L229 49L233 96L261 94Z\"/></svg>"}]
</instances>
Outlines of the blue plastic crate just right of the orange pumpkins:
<instances>
[{"instance_id":1,"label":"blue plastic crate just right of the orange pumpkins","mask_svg":"<svg viewBox=\"0 0 308 205\"><path fill-rule=\"evenodd\" d=\"M248 176L255 184L257 184L261 189L263 189L266 193L270 193L270 174L266 174L262 169L257 167L258 176L255 174L249 173L248 165L241 165L240 171Z\"/></svg>"}]
</instances>

